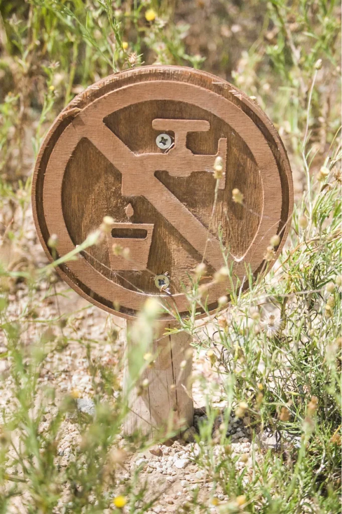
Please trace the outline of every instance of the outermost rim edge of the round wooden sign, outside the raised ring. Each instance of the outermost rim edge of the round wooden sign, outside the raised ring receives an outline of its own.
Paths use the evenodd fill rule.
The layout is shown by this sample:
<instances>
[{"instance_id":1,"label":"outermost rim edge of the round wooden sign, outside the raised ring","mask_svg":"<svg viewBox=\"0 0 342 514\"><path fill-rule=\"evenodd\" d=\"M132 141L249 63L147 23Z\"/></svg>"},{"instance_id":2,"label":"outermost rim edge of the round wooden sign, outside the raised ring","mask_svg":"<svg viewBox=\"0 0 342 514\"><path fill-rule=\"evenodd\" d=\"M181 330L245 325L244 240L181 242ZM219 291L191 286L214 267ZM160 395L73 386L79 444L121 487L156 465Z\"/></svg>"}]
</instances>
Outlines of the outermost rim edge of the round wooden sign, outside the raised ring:
<instances>
[{"instance_id":1,"label":"outermost rim edge of the round wooden sign, outside the raised ring","mask_svg":"<svg viewBox=\"0 0 342 514\"><path fill-rule=\"evenodd\" d=\"M262 131L262 128L264 128L265 131L268 131L269 134L271 134L271 136L274 139L275 144L277 146L278 152L279 152L278 157L280 157L280 159L282 161L281 162L282 171L286 172L284 174L287 179L287 183L285 186L287 186L287 188L288 188L288 205L286 208L286 211L287 211L286 219L289 220L290 213L292 213L292 208L293 208L293 186L292 186L292 175L291 175L290 164L289 164L289 161L287 158L286 150L284 149L284 146L282 144L282 141L281 141L279 135L277 134L274 126L272 125L272 123L270 122L268 117L261 111L261 109L254 102L252 102L246 95L244 95L241 91L237 90L230 83L228 83L224 80L218 79L217 77L215 77L211 74L208 74L206 72L194 70L192 68L179 67L179 66L146 66L143 68L136 68L136 69L120 72L119 74L111 75L111 76L97 82L96 84L93 84L90 87L88 87L85 91L83 91L83 93L81 93L80 95L75 97L73 99L73 101L64 109L64 111L62 111L62 113L58 116L58 118L56 118L55 122L53 123L53 125L51 126L51 128L48 132L48 135L46 136L46 138L42 144L42 147L40 149L39 155L36 160L36 165L35 165L33 180L32 180L32 211L33 211L34 222L36 225L37 232L39 234L41 244L42 244L44 251L50 262L53 261L53 258L51 256L50 251L45 242L45 241L47 241L47 238L44 237L44 235L43 235L44 227L42 227L42 225L45 223L45 219L43 222L41 220L41 215L39 213L40 206L39 206L39 200L38 200L38 195L37 195L37 189L39 189L38 181L39 181L39 174L40 174L40 169L41 169L41 165L42 165L42 160L45 156L45 152L48 149L48 145L49 145L53 135L55 135L55 131L58 129L58 127L60 125L68 124L67 120L68 120L68 118L70 119L70 117L73 115L73 111L75 109L79 110L79 108L84 108L86 105L89 105L91 102L93 102L97 98L104 96L106 94L106 89L108 89L108 92L110 90L112 90L112 89L110 89L110 86L112 84L115 84L116 82L119 83L120 81L123 83L125 83L125 81L129 82L129 79L134 75L139 75L142 80L143 80L144 76L151 74L151 73L155 74L156 77L158 77L158 75L161 72L165 73L165 71L169 71L169 70L172 70L173 72L179 71L179 72L183 72L183 73L185 71L188 74L189 79L192 79L194 84L198 83L199 79L203 80L203 78L211 80L212 83L215 84L215 89L219 89L219 91L217 91L217 92L219 94L221 94L221 96L224 96L226 98L231 96L231 98L227 98L227 99L229 99L232 103L235 103L236 105L238 105L242 109L243 112L245 112L246 114L249 115L250 118L253 116L255 118L253 120L254 123L256 123L258 120L260 120L256 124L261 131ZM178 81L175 80L175 82L177 83ZM119 86L119 87L121 87L121 86ZM213 89L209 89L209 90L213 90ZM227 90L229 91L230 95L227 95ZM264 125L264 127L262 127L262 124ZM54 144L55 143L53 143L53 146L54 146ZM273 150L272 150L272 152L273 152ZM49 158L50 158L50 156L48 157L47 161L49 160ZM278 169L279 169L279 159L276 159L276 162L277 162ZM279 173L279 175L280 175L280 173ZM284 201L283 201L283 203L284 203ZM275 262L277 256L279 255L279 253L286 241L286 237L288 235L289 228L290 228L289 222L282 224L281 242L277 249L273 263ZM260 264L258 269L260 269L261 266L262 266L262 263ZM108 311L111 314L116 314L116 315L119 315L120 317L124 317L126 319L134 319L136 317L135 316L136 313L129 313L128 309L126 309L126 312L122 312L122 311L119 312L119 311L115 310L114 308L108 307L107 305L101 303L98 299L92 297L91 296L92 291L87 290L88 288L85 284L82 284L82 282L80 282L80 281L79 281L79 283L77 283L69 276L69 270L68 270L67 265L63 265L63 267L56 268L56 271L60 274L60 276L63 278L63 280L65 280L70 285L70 287L72 289L74 289L76 292L78 292L81 296L86 298L92 304L99 306L100 308ZM213 311L215 311L215 308L212 309L212 312ZM198 318L203 317L203 316L205 316L205 313L198 316ZM167 320L169 318L165 317L163 319Z\"/></svg>"}]
</instances>

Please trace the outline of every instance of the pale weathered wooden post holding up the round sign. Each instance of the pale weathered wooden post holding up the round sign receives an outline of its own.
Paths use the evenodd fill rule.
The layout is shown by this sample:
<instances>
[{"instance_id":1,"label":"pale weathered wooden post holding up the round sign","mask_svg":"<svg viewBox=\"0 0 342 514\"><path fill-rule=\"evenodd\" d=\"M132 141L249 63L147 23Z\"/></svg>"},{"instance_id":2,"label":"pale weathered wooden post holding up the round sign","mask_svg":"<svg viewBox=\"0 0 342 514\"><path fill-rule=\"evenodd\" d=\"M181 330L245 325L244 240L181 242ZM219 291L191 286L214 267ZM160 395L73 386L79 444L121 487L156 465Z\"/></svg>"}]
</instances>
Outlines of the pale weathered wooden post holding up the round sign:
<instances>
[{"instance_id":1,"label":"pale weathered wooden post holding up the round sign","mask_svg":"<svg viewBox=\"0 0 342 514\"><path fill-rule=\"evenodd\" d=\"M128 332L130 322L127 321ZM161 333L166 327L162 327ZM131 435L153 436L156 432L166 435L167 430L181 430L193 425L194 406L187 383L192 373L190 338L184 333L168 335L154 341L149 348L156 356L153 365L141 376L137 386L129 394L129 412L125 418L124 432ZM134 359L135 347L127 343L124 387L130 383L130 359ZM183 367L181 363L186 361ZM148 386L141 387L147 379Z\"/></svg>"}]
</instances>

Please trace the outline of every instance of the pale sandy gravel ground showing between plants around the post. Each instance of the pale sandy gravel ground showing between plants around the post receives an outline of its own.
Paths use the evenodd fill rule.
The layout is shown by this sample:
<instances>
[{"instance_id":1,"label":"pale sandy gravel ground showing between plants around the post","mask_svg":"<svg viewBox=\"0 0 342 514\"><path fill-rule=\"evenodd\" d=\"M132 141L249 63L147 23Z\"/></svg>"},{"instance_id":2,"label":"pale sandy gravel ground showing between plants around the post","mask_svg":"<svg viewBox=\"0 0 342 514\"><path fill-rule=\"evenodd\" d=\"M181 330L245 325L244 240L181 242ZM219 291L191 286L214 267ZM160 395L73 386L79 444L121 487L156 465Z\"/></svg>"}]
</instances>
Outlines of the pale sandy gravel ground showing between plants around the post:
<instances>
[{"instance_id":1,"label":"pale sandy gravel ground showing between plants around the post","mask_svg":"<svg viewBox=\"0 0 342 514\"><path fill-rule=\"evenodd\" d=\"M20 263L24 259L29 265L40 267L46 263L46 258L32 227L30 212L26 214L25 222L25 241L24 244L21 244L21 249L14 244L12 247L5 248L8 261ZM4 247L2 252L4 255ZM91 340L91 357L101 362L105 368L118 366L120 369L124 349L124 321L89 305L61 281L56 281L52 286L50 283L41 284L40 290L34 294L36 304L30 308L27 307L30 291L25 283L10 282L7 286L10 288L8 310L10 319L17 320L20 317L22 337L27 345L34 344L41 337L43 337L45 345L50 344L51 348L56 345L56 342L61 342L59 351L51 351L46 358L38 379L39 387L42 390L47 386L55 390L54 402L45 409L40 431L44 432L48 429L51 417L56 413L57 406L67 393L75 398L80 412L85 416L93 416L92 398L97 393L97 384L96 380L93 381L91 378L86 346L83 342L85 339ZM47 328L44 323L39 322L56 318L61 318L62 321L53 323L53 328ZM113 337L113 334L118 337ZM67 345L62 344L64 338L69 340ZM6 352L7 341L3 332L0 332L0 347L1 352ZM16 408L16 402L13 399L14 384L9 374L10 364L8 358L0 360L0 373L3 377L0 382L0 410L5 416ZM212 371L205 352L194 353L194 373L206 378L206 383L210 384L210 389L204 391L200 389L197 382L194 384L193 395L196 408L194 423L195 428L198 429L199 424L205 423L206 420L205 412L201 409L201 406L205 405L205 395L210 394L218 408L224 406L224 401L222 400L223 391L220 389L219 376ZM111 401L110 398L104 399ZM248 422L248 419L236 419L232 414L228 427L227 435L231 436L230 452L233 456L238 457L237 469L239 470L245 467L249 470L252 465L252 443L250 431L246 427ZM214 428L218 428L221 423L222 417L219 416L215 421ZM124 443L124 439L118 440L119 447L123 447ZM77 420L72 414L67 415L61 426L56 465L61 468L66 467L70 461L74 460L75 450L80 444L81 435ZM256 444L254 445L256 458L260 458L262 452ZM185 443L183 439L179 439L172 446L161 445L144 453L128 454L124 472L120 473L120 480L117 482L118 491L120 491L122 482L128 480L129 476L139 467L141 468L140 480L147 480L148 490L151 491L151 494L153 491L161 493L155 506L149 512L177 511L184 503L191 501L193 495L197 493L199 500L211 502L214 494L212 479L194 461L200 452L206 451L208 449L202 442L200 444ZM220 455L223 452L222 447L215 446L213 452L215 458L224 458L224 455ZM14 467L11 467L11 454L8 472L16 473ZM245 473L243 480L248 479L249 472ZM67 486L65 486L64 492L63 502L65 504L68 497ZM215 495L218 502L226 500L223 492L215 490ZM22 510L20 499L14 498L13 506L15 506L16 512L18 510L25 512ZM210 510L216 512L217 507L213 505ZM63 512L62 503L56 512Z\"/></svg>"}]
</instances>

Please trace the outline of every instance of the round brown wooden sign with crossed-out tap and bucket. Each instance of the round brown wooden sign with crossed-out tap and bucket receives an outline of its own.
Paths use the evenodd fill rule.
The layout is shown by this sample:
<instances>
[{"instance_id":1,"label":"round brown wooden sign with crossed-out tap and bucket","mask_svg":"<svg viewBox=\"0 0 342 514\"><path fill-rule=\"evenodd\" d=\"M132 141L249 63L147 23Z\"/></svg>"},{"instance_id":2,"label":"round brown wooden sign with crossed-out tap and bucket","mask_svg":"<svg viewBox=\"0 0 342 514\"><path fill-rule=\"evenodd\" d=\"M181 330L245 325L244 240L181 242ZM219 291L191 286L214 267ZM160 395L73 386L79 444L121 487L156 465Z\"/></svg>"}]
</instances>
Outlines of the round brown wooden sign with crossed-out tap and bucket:
<instances>
[{"instance_id":1,"label":"round brown wooden sign with crossed-out tap and bucket","mask_svg":"<svg viewBox=\"0 0 342 514\"><path fill-rule=\"evenodd\" d=\"M275 234L281 250L293 196L286 151L255 102L222 79L176 66L123 71L77 96L42 145L32 195L51 261L52 234L62 256L112 218L100 244L58 271L90 302L126 318L147 296L187 316L184 286L202 261L215 309L226 293L212 280L224 265L220 237L236 276L246 266L257 273Z\"/></svg>"}]
</instances>

